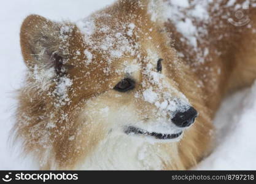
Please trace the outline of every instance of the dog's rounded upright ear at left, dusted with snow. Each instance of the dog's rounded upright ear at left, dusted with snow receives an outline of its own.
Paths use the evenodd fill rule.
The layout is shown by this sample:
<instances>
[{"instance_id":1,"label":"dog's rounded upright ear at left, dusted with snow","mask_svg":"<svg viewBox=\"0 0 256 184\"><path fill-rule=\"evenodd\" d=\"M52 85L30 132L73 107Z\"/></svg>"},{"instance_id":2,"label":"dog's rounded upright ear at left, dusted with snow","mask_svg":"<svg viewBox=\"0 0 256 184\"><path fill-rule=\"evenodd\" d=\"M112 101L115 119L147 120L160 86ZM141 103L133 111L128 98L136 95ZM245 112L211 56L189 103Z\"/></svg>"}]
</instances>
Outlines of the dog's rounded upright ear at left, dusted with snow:
<instances>
[{"instance_id":1,"label":"dog's rounded upright ear at left, dusted with snow","mask_svg":"<svg viewBox=\"0 0 256 184\"><path fill-rule=\"evenodd\" d=\"M20 31L21 52L26 66L29 69L54 66L55 71L60 72L68 53L65 42L68 42L69 28L39 15L29 15Z\"/></svg>"}]
</instances>

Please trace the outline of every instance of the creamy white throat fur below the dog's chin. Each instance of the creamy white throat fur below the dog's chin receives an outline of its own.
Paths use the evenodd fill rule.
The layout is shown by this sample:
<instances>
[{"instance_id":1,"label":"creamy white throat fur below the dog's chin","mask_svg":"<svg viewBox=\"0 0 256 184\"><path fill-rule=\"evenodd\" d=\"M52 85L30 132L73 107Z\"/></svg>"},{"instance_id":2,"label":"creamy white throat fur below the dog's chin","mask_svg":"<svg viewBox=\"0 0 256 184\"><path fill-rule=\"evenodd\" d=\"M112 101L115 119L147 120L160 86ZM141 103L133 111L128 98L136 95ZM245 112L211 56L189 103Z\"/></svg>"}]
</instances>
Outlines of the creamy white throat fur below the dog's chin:
<instances>
[{"instance_id":1,"label":"creamy white throat fur below the dog's chin","mask_svg":"<svg viewBox=\"0 0 256 184\"><path fill-rule=\"evenodd\" d=\"M157 143L150 144L137 137L111 134L87 157L78 169L85 170L161 170L171 161ZM177 150L173 145L172 150ZM163 153L166 153L163 154ZM176 155L174 156L176 158ZM175 169L175 168L169 168Z\"/></svg>"}]
</instances>

